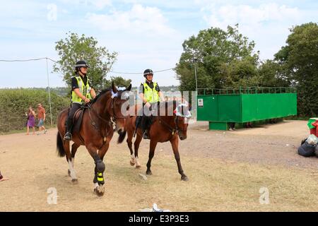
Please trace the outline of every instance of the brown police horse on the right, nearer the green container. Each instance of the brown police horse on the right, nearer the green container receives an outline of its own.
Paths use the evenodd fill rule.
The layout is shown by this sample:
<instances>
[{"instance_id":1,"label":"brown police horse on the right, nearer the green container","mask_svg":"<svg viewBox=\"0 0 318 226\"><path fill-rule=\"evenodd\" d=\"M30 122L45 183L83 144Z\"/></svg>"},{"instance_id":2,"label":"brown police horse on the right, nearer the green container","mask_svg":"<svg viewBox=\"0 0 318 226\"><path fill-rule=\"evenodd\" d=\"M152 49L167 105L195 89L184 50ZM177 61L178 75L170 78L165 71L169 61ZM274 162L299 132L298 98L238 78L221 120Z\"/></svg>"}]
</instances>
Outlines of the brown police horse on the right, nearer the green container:
<instances>
[{"instance_id":1,"label":"brown police horse on the right, nearer the green container","mask_svg":"<svg viewBox=\"0 0 318 226\"><path fill-rule=\"evenodd\" d=\"M135 115L139 112L141 106L135 105ZM178 110L179 109L179 110ZM161 114L160 114L161 112ZM162 115L162 112L165 112ZM187 112L186 114L180 114L181 112ZM170 113L170 114L168 114ZM188 127L188 116L189 109L185 105L177 106L176 102L160 102L158 107L158 114L153 116L153 124L149 130L150 135L150 148L149 148L149 158L147 162L146 174L151 175L151 160L155 154L155 147L158 142L163 143L170 141L172 145L173 153L175 154L175 160L177 161L177 167L179 174L181 174L181 179L187 181L188 178L184 174L179 155L179 138L184 140L187 138L187 127ZM132 166L136 165L136 168L141 167L138 158L138 149L139 144L142 139L142 130L141 128L136 129L136 118L129 117L126 119L126 131L127 131L127 145L130 150L131 160L130 164ZM136 131L136 141L134 142L134 150L132 149L132 138L134 132Z\"/></svg>"}]
</instances>

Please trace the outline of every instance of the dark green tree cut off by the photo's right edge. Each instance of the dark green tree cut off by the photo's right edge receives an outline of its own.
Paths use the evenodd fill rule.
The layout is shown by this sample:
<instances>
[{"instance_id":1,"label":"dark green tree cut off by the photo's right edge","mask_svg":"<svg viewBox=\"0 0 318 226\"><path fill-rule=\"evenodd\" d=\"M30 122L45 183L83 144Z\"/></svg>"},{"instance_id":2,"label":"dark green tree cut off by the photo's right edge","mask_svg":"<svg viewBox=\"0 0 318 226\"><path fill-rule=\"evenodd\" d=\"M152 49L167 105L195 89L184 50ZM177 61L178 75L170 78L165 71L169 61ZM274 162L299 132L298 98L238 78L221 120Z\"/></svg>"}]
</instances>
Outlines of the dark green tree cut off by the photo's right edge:
<instances>
[{"instance_id":1,"label":"dark green tree cut off by the photo's right edge","mask_svg":"<svg viewBox=\"0 0 318 226\"><path fill-rule=\"evenodd\" d=\"M305 23L290 29L287 45L275 54L277 64L298 90L298 114L318 114L318 25Z\"/></svg>"}]
</instances>

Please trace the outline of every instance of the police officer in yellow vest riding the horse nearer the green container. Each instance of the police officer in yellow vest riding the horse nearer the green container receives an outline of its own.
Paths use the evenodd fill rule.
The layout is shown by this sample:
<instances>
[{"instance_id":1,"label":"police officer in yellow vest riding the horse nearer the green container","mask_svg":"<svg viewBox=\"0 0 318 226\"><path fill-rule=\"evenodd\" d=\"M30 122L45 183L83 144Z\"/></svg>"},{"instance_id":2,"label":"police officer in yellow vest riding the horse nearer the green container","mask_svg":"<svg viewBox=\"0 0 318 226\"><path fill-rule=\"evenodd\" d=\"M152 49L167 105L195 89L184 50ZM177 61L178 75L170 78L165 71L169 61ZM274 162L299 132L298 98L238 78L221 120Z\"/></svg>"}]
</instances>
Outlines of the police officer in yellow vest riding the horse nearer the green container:
<instances>
[{"instance_id":1,"label":"police officer in yellow vest riding the horse nearer the green container","mask_svg":"<svg viewBox=\"0 0 318 226\"><path fill-rule=\"evenodd\" d=\"M153 71L151 69L146 69L143 72L143 77L146 78L144 83L141 83L139 88L139 97L143 100L143 107L151 107L153 104L165 101L163 93L161 93L158 83L153 82ZM141 127L143 129L143 138L149 139L148 127L150 117L143 114L141 119Z\"/></svg>"}]
</instances>

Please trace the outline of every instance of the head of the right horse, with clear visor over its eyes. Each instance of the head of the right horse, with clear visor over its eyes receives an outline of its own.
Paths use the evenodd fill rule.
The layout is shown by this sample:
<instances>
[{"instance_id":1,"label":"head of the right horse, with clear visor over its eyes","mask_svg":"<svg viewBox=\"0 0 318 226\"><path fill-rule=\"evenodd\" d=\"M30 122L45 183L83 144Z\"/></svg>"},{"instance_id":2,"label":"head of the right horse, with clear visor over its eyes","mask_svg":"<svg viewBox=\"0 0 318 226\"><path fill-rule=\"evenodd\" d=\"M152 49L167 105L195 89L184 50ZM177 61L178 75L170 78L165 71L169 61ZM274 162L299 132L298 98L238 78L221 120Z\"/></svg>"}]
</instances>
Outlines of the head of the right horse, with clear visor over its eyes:
<instances>
[{"instance_id":1,"label":"head of the right horse, with clear visor over its eyes","mask_svg":"<svg viewBox=\"0 0 318 226\"><path fill-rule=\"evenodd\" d=\"M191 118L189 106L185 104L178 105L174 111L174 114L178 129L178 135L180 140L183 141L187 139L188 122Z\"/></svg>"}]
</instances>

